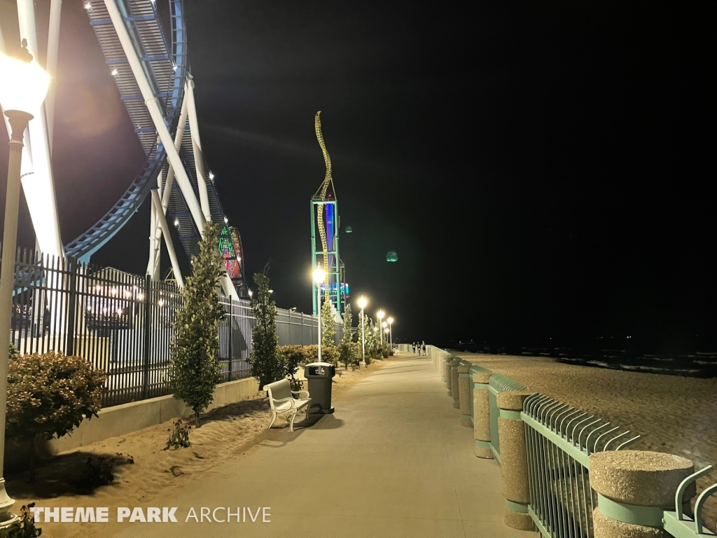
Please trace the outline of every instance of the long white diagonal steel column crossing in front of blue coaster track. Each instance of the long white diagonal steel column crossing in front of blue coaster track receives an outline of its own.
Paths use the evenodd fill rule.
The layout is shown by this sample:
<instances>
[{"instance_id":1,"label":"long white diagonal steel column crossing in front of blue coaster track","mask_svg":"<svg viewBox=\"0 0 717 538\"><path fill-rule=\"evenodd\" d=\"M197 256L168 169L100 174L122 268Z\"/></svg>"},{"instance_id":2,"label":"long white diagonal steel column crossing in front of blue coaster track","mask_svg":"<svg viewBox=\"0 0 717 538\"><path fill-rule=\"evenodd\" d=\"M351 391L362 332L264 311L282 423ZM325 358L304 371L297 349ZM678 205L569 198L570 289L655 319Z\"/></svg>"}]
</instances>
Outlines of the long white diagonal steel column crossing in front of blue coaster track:
<instances>
[{"instance_id":1,"label":"long white diagonal steel column crossing in front of blue coaster track","mask_svg":"<svg viewBox=\"0 0 717 538\"><path fill-rule=\"evenodd\" d=\"M157 98L154 96L149 82L147 82L142 62L139 60L137 51L132 44L132 40L127 32L127 27L125 27L125 22L122 19L120 10L118 9L115 0L105 0L105 6L107 6L107 11L110 14L113 27L120 39L120 44L122 44L122 49L125 52L127 61L129 62L135 80L137 81L137 85L142 93L147 110L151 115L159 138L162 141L165 151L167 152L167 160L174 169L174 174L176 176L179 189L181 190L181 194L184 196L186 204L189 206L189 212L194 219L194 224L199 230L199 234L204 235L204 224L206 222L206 218L204 217L201 207L199 207L199 203L196 200L194 189L191 187L191 181L189 181L189 176L186 174L184 165L179 158L179 152L176 151L174 146L174 140L172 140L166 123L164 123L164 116L159 108Z\"/></svg>"}]
</instances>

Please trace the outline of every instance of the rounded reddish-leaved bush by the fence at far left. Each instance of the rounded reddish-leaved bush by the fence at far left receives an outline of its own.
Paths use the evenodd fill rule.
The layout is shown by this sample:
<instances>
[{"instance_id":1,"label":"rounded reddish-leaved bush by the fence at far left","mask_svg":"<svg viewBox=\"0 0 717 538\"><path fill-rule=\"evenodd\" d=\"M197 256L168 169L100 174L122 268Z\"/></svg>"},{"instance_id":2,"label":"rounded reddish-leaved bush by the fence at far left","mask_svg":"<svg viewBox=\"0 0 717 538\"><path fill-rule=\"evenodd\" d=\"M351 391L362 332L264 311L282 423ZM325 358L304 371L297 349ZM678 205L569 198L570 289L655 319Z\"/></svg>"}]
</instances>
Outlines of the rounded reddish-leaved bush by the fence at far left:
<instances>
[{"instance_id":1,"label":"rounded reddish-leaved bush by the fence at far left","mask_svg":"<svg viewBox=\"0 0 717 538\"><path fill-rule=\"evenodd\" d=\"M6 434L29 446L32 481L34 438L60 438L85 418L98 416L106 379L82 357L56 351L10 359Z\"/></svg>"}]
</instances>

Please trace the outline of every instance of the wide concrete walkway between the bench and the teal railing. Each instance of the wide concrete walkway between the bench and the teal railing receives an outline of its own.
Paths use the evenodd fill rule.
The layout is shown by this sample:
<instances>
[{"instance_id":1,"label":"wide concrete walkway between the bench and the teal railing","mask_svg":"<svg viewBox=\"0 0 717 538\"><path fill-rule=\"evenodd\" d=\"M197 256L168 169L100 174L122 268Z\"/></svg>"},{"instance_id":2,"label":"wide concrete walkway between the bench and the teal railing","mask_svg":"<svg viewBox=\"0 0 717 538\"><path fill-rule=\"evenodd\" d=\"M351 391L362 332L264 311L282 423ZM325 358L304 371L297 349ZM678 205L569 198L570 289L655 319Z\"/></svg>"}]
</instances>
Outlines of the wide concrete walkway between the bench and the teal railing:
<instances>
[{"instance_id":1,"label":"wide concrete walkway between the bench and the teal railing","mask_svg":"<svg viewBox=\"0 0 717 538\"><path fill-rule=\"evenodd\" d=\"M336 413L294 433L275 428L246 457L179 496L178 524L110 524L122 537L536 536L503 525L500 468L473 455L428 357L395 357L341 395ZM268 418L267 418L268 420ZM270 507L270 523L184 522L190 507ZM224 519L226 511L217 511Z\"/></svg>"}]
</instances>

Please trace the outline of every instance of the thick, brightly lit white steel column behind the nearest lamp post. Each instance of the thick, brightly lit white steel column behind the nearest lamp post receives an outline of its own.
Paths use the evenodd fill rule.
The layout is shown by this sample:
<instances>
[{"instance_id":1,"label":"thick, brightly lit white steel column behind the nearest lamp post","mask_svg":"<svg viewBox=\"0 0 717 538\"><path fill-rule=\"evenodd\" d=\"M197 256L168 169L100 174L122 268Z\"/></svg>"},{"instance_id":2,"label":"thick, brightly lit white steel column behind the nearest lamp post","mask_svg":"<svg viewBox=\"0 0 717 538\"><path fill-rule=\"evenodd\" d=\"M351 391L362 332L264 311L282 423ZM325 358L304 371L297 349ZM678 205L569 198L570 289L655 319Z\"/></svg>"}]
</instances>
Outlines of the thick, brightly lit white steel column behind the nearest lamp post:
<instances>
[{"instance_id":1,"label":"thick, brightly lit white steel column behind the nearest lamp post","mask_svg":"<svg viewBox=\"0 0 717 538\"><path fill-rule=\"evenodd\" d=\"M39 48L33 0L17 0L17 16L21 42L27 39L27 50L37 60ZM34 173L22 177L22 189L42 253L64 258L44 105L32 114L36 119L30 122L28 130Z\"/></svg>"}]
</instances>

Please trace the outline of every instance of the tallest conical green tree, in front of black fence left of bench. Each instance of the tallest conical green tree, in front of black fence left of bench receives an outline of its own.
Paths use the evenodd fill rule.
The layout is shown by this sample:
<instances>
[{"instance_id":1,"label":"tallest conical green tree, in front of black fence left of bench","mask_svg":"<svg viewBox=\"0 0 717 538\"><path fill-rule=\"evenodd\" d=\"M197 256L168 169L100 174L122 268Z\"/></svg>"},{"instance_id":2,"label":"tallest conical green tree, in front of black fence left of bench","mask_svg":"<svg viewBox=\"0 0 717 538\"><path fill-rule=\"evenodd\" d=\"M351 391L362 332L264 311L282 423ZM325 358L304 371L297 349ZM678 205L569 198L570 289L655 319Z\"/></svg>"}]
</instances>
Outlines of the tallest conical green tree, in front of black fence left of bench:
<instances>
[{"instance_id":1,"label":"tallest conical green tree, in front of black fence left of bench","mask_svg":"<svg viewBox=\"0 0 717 538\"><path fill-rule=\"evenodd\" d=\"M217 227L207 222L204 239L199 242L199 255L194 258L191 276L181 291L184 304L174 318L170 342L172 391L174 397L194 410L197 426L199 413L212 403L214 389L221 380L217 352L224 310L217 293L222 271L217 241Z\"/></svg>"}]
</instances>

